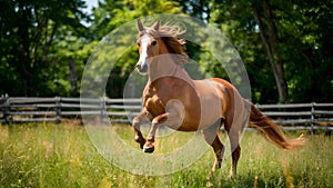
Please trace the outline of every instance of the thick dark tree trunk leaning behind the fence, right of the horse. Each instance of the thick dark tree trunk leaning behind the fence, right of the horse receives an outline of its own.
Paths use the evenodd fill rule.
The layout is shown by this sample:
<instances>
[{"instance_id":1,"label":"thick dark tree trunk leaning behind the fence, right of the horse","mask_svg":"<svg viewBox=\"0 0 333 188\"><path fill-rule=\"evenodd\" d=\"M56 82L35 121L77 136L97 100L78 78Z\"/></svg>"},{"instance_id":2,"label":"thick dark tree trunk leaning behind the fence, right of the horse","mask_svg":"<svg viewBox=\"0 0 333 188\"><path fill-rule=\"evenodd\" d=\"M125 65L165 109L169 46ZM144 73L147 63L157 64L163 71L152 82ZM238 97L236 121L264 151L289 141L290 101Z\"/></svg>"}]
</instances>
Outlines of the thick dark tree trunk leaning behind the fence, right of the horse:
<instances>
[{"instance_id":1,"label":"thick dark tree trunk leaning behind the fence, right of the horse","mask_svg":"<svg viewBox=\"0 0 333 188\"><path fill-rule=\"evenodd\" d=\"M262 7L260 8L254 7L254 19L259 24L260 37L265 47L266 53L269 56L270 65L274 73L274 78L279 91L279 100L280 102L286 102L287 85L284 76L284 68L283 68L281 52L279 50L276 27L272 13L272 8L269 1L270 0L263 0Z\"/></svg>"}]
</instances>

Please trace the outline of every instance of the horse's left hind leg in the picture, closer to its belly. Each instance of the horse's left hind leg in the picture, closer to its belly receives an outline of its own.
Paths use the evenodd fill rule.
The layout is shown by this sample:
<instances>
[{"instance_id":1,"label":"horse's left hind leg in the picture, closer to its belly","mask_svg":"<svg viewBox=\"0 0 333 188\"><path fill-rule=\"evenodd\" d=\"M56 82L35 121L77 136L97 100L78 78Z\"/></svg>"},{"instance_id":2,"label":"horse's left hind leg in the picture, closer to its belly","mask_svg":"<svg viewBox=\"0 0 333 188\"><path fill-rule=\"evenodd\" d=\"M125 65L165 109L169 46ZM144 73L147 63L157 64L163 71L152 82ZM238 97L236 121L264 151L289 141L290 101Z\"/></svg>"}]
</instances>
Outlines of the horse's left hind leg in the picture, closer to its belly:
<instances>
[{"instance_id":1,"label":"horse's left hind leg in the picture, closer to its belly","mask_svg":"<svg viewBox=\"0 0 333 188\"><path fill-rule=\"evenodd\" d=\"M212 167L212 171L215 171L218 168L221 168L223 155L224 155L224 146L220 141L218 136L219 128L220 128L220 120L213 126L202 131L205 141L209 145L211 145L211 147L214 149L215 152L215 161Z\"/></svg>"}]
</instances>

